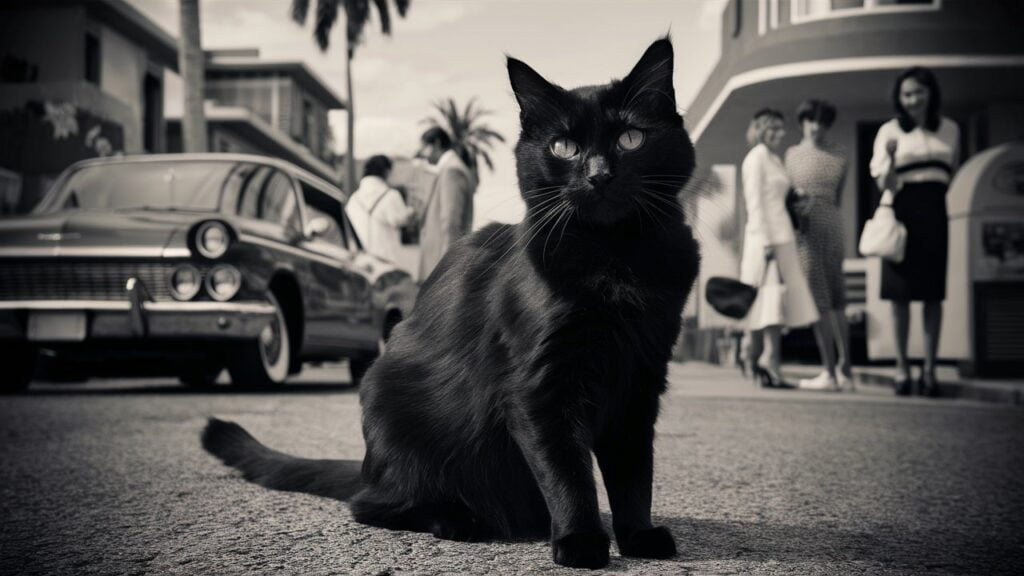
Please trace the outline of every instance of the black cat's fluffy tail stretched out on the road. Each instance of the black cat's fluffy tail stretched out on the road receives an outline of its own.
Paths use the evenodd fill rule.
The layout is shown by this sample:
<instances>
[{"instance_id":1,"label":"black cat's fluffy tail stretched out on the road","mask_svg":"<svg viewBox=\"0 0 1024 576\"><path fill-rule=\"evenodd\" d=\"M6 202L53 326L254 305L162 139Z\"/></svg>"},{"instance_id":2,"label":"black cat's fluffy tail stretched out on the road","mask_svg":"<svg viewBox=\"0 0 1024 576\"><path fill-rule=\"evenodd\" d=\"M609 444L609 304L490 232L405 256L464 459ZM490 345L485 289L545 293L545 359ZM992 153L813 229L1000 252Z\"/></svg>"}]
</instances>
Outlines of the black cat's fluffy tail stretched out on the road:
<instances>
[{"instance_id":1,"label":"black cat's fluffy tail stretched out on the road","mask_svg":"<svg viewBox=\"0 0 1024 576\"><path fill-rule=\"evenodd\" d=\"M348 500L362 488L358 460L296 458L263 446L242 426L210 418L203 429L203 448L249 482L273 490L304 492Z\"/></svg>"}]
</instances>

